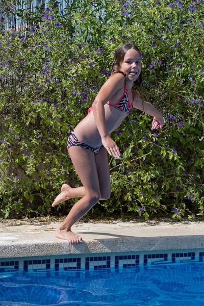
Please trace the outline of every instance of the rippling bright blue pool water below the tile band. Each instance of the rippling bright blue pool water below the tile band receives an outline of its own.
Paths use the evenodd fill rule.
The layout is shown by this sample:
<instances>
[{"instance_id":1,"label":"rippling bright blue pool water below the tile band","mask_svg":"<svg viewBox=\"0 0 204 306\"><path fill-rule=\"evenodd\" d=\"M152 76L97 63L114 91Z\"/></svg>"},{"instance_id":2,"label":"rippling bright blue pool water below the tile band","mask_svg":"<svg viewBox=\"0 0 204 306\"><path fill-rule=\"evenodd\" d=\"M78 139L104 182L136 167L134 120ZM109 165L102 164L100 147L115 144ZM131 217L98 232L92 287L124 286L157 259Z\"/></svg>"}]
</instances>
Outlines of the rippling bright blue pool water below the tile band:
<instances>
[{"instance_id":1,"label":"rippling bright blue pool water below the tile band","mask_svg":"<svg viewBox=\"0 0 204 306\"><path fill-rule=\"evenodd\" d=\"M201 306L204 263L0 273L0 305Z\"/></svg>"}]
</instances>

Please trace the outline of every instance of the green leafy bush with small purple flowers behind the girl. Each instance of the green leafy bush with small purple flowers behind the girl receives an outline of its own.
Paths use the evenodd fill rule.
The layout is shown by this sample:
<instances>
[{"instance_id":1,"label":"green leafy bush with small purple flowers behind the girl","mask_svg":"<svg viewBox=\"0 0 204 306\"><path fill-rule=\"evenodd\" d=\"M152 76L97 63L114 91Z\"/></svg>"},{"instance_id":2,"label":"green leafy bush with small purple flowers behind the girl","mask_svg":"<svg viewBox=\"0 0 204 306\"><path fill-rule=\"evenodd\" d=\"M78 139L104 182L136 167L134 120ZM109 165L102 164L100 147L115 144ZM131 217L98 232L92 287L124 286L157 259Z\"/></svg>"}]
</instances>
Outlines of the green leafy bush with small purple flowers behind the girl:
<instances>
[{"instance_id":1,"label":"green leafy bush with small purple flowers behind the girl","mask_svg":"<svg viewBox=\"0 0 204 306\"><path fill-rule=\"evenodd\" d=\"M165 125L151 131L152 117L135 110L111 135L123 155L110 158L111 198L94 211L203 215L202 2L85 0L60 12L50 1L30 17L16 13L27 28L0 32L2 217L50 214L63 183L81 185L67 136L109 77L114 50L129 41Z\"/></svg>"}]
</instances>

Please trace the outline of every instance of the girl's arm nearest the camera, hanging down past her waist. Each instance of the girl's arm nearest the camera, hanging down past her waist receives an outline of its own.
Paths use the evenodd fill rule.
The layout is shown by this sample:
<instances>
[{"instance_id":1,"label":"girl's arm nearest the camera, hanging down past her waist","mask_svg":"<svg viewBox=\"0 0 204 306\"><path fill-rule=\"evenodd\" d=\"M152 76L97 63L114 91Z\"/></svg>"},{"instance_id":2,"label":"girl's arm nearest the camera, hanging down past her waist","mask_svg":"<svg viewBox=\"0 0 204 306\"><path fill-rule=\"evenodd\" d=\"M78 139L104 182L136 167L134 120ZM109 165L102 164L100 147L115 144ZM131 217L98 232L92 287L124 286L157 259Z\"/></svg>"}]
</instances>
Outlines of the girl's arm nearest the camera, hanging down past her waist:
<instances>
[{"instance_id":1,"label":"girl's arm nearest the camera, hanging down past her waist","mask_svg":"<svg viewBox=\"0 0 204 306\"><path fill-rule=\"evenodd\" d=\"M101 87L92 104L93 116L98 132L101 136L102 144L105 146L109 154L113 155L114 157L119 157L120 152L115 141L109 136L104 106L123 86L124 76L121 73L112 75Z\"/></svg>"}]
</instances>

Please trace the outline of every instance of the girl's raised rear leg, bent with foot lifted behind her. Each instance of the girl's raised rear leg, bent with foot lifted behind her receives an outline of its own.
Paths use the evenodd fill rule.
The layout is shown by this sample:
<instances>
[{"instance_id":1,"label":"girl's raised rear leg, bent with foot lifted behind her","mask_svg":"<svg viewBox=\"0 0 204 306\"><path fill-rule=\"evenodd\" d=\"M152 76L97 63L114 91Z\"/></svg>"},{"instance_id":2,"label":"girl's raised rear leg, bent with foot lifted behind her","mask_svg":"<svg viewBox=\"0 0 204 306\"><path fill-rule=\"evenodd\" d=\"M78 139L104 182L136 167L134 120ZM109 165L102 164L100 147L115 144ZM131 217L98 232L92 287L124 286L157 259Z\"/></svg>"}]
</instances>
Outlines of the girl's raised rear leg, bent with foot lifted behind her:
<instances>
[{"instance_id":1,"label":"girl's raised rear leg, bent with foot lifted behind her","mask_svg":"<svg viewBox=\"0 0 204 306\"><path fill-rule=\"evenodd\" d=\"M95 155L95 163L98 173L98 180L100 186L100 200L106 200L110 197L110 172L108 163L108 154L105 147L101 148L98 154ZM86 191L84 186L71 188L67 184L63 184L61 188L61 193L56 197L52 206L64 202L70 198L83 197Z\"/></svg>"}]
</instances>

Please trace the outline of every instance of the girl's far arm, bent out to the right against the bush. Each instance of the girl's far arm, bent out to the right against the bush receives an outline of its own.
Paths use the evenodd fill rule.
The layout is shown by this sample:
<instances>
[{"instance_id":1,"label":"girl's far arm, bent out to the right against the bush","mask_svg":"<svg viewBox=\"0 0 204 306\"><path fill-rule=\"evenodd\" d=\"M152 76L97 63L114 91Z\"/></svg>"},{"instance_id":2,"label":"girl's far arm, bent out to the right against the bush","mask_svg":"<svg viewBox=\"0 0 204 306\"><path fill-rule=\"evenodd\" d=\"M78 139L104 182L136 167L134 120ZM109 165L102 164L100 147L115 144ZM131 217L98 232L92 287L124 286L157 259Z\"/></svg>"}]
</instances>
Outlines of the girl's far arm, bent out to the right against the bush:
<instances>
[{"instance_id":1,"label":"girl's far arm, bent out to the right against the bush","mask_svg":"<svg viewBox=\"0 0 204 306\"><path fill-rule=\"evenodd\" d=\"M144 110L143 110L142 99L136 94L135 99L134 99L134 103L133 103L133 107L140 110L140 111L144 111L146 114L154 117L153 122L152 122L152 129L151 130L158 129L159 127L162 129L162 127L164 125L164 118L163 118L162 113L160 113L156 109L156 107L154 107L154 105L144 101L144 104L143 104Z\"/></svg>"}]
</instances>

